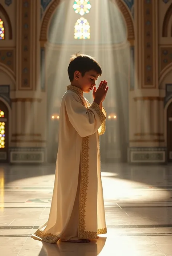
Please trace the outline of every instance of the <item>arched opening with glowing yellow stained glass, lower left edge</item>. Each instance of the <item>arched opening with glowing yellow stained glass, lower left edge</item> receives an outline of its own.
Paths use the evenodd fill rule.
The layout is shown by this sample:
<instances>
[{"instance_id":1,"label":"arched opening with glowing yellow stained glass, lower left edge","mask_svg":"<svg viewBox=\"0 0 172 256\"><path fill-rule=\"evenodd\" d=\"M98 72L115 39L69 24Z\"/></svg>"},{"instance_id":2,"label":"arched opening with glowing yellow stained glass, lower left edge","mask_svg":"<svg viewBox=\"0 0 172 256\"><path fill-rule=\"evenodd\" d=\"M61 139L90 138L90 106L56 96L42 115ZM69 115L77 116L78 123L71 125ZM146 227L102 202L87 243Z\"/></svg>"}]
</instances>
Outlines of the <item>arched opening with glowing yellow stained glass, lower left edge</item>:
<instances>
[{"instance_id":1,"label":"arched opening with glowing yellow stained glass, lower left edge","mask_svg":"<svg viewBox=\"0 0 172 256\"><path fill-rule=\"evenodd\" d=\"M8 162L9 113L7 106L0 101L0 163Z\"/></svg>"}]
</instances>

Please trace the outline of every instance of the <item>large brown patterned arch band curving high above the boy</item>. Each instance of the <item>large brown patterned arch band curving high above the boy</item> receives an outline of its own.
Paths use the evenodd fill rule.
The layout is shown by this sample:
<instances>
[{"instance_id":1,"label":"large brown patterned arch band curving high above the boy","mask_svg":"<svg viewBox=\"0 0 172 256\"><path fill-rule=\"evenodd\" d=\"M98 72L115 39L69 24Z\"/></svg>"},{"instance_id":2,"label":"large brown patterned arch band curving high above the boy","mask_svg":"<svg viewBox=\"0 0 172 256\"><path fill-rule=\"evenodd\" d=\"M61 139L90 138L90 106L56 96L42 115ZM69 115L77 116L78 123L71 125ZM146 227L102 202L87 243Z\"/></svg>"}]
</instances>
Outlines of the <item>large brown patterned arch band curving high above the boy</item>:
<instances>
[{"instance_id":1,"label":"large brown patterned arch band curving high above the boy","mask_svg":"<svg viewBox=\"0 0 172 256\"><path fill-rule=\"evenodd\" d=\"M133 20L130 14L129 9L127 8L126 4L123 3L122 0L110 0L112 1L114 4L118 5L118 8L120 10L120 12L122 13L124 20L126 21L126 25L127 25L127 40L132 42L134 42L134 24L133 24ZM41 24L41 32L40 32L40 41L41 42L46 42L47 41L47 32L48 32L48 26L49 26L49 22L50 19L54 13L54 11L56 10L57 6L60 4L60 0L54 0L52 1L52 3L49 5L49 7L47 8L42 24Z\"/></svg>"}]
</instances>

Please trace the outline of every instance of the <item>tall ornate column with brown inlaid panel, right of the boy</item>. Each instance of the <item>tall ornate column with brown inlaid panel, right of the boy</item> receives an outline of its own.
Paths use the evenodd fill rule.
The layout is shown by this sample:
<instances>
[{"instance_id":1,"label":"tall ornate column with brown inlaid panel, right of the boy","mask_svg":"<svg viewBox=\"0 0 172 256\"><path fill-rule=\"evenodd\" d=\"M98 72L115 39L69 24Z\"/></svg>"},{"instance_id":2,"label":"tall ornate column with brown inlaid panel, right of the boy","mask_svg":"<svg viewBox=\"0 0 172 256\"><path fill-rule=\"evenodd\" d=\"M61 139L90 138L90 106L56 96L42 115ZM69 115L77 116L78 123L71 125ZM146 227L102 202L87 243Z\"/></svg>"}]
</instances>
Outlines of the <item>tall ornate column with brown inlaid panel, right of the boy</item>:
<instances>
[{"instance_id":1,"label":"tall ornate column with brown inlaid panel, right of the boy","mask_svg":"<svg viewBox=\"0 0 172 256\"><path fill-rule=\"evenodd\" d=\"M158 0L135 0L136 81L131 95L138 107L135 118L138 128L130 139L129 159L132 163L165 162L165 150L160 147L163 119L158 119L158 109L163 111L158 89L158 5ZM143 101L143 106L139 101ZM142 117L139 115L141 111L144 113ZM161 131L158 133L160 120Z\"/></svg>"}]
</instances>

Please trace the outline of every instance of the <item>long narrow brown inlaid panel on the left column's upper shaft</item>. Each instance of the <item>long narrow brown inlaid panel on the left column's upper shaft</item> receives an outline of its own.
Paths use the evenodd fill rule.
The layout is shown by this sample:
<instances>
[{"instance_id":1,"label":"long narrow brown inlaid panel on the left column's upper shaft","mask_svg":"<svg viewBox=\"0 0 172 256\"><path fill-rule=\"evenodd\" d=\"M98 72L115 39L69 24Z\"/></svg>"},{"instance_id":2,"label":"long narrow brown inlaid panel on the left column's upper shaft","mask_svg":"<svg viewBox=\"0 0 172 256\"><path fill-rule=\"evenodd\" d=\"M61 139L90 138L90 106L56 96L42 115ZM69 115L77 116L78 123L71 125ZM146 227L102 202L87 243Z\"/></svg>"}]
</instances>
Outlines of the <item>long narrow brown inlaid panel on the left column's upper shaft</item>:
<instances>
[{"instance_id":1,"label":"long narrow brown inlaid panel on the left column's upper shaft","mask_svg":"<svg viewBox=\"0 0 172 256\"><path fill-rule=\"evenodd\" d=\"M22 0L21 12L21 87L20 90L32 90L30 84L30 40L32 34L30 30L30 17L32 16L31 0Z\"/></svg>"}]
</instances>

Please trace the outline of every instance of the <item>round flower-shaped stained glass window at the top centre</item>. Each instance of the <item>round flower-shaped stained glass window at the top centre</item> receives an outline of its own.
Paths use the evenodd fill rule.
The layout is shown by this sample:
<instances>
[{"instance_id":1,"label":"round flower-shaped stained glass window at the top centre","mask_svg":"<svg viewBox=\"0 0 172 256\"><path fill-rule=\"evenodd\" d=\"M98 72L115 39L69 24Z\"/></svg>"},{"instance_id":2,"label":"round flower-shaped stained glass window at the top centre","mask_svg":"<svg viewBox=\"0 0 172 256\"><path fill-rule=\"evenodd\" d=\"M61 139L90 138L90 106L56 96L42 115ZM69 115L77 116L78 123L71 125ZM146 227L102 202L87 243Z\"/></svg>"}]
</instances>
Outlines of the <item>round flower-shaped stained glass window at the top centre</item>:
<instances>
[{"instance_id":1,"label":"round flower-shaped stained glass window at the top centre","mask_svg":"<svg viewBox=\"0 0 172 256\"><path fill-rule=\"evenodd\" d=\"M91 4L89 0L75 0L73 4L73 9L75 13L79 13L81 16L89 13L91 9Z\"/></svg>"}]
</instances>

